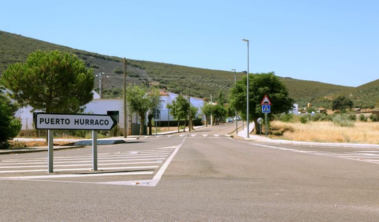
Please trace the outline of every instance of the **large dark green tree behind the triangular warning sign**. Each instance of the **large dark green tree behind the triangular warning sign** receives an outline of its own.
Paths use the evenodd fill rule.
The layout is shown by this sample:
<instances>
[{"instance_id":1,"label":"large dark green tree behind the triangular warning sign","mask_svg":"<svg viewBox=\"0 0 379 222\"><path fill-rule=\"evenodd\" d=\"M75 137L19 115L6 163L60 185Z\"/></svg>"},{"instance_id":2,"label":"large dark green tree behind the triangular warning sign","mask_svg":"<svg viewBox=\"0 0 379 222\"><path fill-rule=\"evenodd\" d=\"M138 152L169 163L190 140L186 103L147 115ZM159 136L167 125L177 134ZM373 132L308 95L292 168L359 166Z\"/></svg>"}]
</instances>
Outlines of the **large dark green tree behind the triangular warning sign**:
<instances>
[{"instance_id":1,"label":"large dark green tree behind the triangular warning sign","mask_svg":"<svg viewBox=\"0 0 379 222\"><path fill-rule=\"evenodd\" d=\"M230 89L230 105L237 110L242 119L246 120L246 86L247 77L242 79ZM270 98L271 114L288 113L292 110L293 99L289 97L288 91L284 84L279 80L274 72L249 74L249 119L253 120L255 126L258 126L257 119L264 117L260 102L264 95ZM259 134L259 127L256 127L256 134Z\"/></svg>"}]
</instances>

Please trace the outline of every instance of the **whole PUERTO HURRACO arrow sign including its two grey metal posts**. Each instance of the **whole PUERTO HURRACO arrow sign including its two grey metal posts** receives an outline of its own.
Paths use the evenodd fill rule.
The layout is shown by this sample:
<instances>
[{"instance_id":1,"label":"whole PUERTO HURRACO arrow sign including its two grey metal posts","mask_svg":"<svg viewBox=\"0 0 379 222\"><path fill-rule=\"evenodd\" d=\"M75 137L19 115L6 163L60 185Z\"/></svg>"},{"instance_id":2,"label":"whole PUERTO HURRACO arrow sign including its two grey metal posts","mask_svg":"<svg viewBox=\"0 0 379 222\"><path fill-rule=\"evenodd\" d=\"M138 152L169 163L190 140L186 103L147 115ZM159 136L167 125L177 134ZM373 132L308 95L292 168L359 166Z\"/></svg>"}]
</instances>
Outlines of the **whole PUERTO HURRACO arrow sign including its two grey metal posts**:
<instances>
[{"instance_id":1,"label":"whole PUERTO HURRACO arrow sign including its two grey metal posts","mask_svg":"<svg viewBox=\"0 0 379 222\"><path fill-rule=\"evenodd\" d=\"M111 130L117 121L110 115L36 113L36 129L48 129L48 171L53 173L53 129L92 130L93 170L97 170L97 132Z\"/></svg>"}]
</instances>

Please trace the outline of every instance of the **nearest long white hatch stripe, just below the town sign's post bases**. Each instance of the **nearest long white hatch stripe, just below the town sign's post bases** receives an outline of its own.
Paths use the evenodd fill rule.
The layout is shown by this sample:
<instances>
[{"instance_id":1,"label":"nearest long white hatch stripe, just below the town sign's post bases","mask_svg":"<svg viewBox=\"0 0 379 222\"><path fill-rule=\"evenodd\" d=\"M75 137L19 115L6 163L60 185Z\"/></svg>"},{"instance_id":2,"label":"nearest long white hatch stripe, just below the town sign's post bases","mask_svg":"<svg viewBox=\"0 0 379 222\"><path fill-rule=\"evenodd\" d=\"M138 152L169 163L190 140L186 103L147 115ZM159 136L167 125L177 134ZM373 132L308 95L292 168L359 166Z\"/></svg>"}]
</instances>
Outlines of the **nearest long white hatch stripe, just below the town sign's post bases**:
<instances>
[{"instance_id":1,"label":"nearest long white hatch stripe, just below the town sign's post bases","mask_svg":"<svg viewBox=\"0 0 379 222\"><path fill-rule=\"evenodd\" d=\"M124 176L124 175L146 175L154 172L123 172L123 173L95 173L95 174L65 174L65 175L43 175L43 176L22 176L22 177L0 177L0 179L45 179L45 178L65 178L65 177L96 177L96 176Z\"/></svg>"}]
</instances>

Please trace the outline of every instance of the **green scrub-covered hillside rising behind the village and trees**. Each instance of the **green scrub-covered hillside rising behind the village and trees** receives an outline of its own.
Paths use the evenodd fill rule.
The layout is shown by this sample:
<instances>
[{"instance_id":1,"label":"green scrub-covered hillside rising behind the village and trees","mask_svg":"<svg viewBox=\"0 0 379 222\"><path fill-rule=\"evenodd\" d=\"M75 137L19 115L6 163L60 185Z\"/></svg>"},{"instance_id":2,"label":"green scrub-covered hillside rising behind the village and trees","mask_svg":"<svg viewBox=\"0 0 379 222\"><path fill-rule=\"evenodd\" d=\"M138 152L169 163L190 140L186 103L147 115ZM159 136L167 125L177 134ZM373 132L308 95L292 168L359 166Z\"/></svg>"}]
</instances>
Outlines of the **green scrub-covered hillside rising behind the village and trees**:
<instances>
[{"instance_id":1,"label":"green scrub-covered hillside rising behind the village and trees","mask_svg":"<svg viewBox=\"0 0 379 222\"><path fill-rule=\"evenodd\" d=\"M0 31L0 74L8 64L24 62L28 55L35 50L62 50L76 54L88 67L94 69L94 75L104 72L103 79L104 97L121 97L123 86L123 58L104 56L92 52L44 42L41 40L24 37L9 32ZM173 93L190 94L192 96L210 99L216 96L220 90L228 94L228 89L234 84L234 72L204 68L188 67L167 63L156 63L127 59L127 83L149 84L159 87L167 87ZM120 74L117 74L120 73ZM243 75L237 72L237 80ZM280 77L280 80L288 88L289 94L300 107L311 102L315 106L326 106L330 98L336 95L350 95L358 101L366 97L378 103L378 97L371 95L379 87L378 82L365 84L361 87L346 87L315 81L305 81ZM95 90L98 90L98 77L95 77ZM353 93L354 92L354 93ZM359 93L358 93L359 92ZM366 96L367 93L370 93ZM354 101L355 102L355 101Z\"/></svg>"}]
</instances>

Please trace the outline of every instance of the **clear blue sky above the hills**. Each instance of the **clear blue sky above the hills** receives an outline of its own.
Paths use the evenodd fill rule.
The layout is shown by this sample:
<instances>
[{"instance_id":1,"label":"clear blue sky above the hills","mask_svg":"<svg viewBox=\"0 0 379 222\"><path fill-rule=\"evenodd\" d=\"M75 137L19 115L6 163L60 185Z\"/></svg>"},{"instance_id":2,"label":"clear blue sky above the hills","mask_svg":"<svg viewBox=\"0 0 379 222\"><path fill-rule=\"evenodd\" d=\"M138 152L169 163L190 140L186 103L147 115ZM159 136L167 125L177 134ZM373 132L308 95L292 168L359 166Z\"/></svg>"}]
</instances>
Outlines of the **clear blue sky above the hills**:
<instances>
[{"instance_id":1,"label":"clear blue sky above the hills","mask_svg":"<svg viewBox=\"0 0 379 222\"><path fill-rule=\"evenodd\" d=\"M5 0L0 30L99 54L275 71L344 86L379 79L378 0Z\"/></svg>"}]
</instances>

